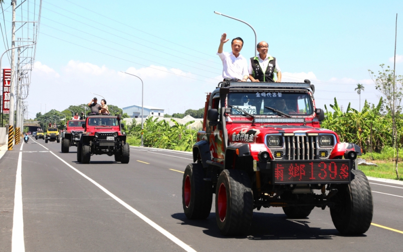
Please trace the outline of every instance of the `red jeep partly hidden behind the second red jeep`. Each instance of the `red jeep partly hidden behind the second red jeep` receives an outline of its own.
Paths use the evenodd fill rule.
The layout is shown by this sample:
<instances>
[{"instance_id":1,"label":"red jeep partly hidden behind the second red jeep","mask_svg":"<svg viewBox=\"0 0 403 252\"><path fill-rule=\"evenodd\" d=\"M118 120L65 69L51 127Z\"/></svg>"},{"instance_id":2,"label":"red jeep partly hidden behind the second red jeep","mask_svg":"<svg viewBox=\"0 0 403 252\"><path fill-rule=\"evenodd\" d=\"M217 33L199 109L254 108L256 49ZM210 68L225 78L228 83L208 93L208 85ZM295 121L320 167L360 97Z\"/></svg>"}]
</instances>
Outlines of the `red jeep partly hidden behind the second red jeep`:
<instances>
[{"instance_id":1,"label":"red jeep partly hidden behind the second red jeep","mask_svg":"<svg viewBox=\"0 0 403 252\"><path fill-rule=\"evenodd\" d=\"M66 132L63 133L61 138L61 152L68 153L70 146L77 146L80 142L81 134L84 129L82 124L85 120L69 120L67 121Z\"/></svg>"}]
</instances>

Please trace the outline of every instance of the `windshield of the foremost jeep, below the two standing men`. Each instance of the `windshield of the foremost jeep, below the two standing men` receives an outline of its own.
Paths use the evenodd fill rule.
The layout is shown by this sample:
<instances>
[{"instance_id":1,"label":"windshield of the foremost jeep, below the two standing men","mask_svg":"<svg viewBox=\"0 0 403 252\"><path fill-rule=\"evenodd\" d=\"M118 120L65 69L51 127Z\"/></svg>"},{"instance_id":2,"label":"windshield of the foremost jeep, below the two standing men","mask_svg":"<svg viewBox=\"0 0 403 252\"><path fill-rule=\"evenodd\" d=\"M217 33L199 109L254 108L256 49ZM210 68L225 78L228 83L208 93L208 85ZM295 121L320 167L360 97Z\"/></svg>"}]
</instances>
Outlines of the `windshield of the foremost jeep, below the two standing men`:
<instances>
[{"instance_id":1,"label":"windshield of the foremost jeep, below the two standing men","mask_svg":"<svg viewBox=\"0 0 403 252\"><path fill-rule=\"evenodd\" d=\"M275 110L290 116L313 114L312 100L308 93L256 92L255 90L254 92L230 92L228 105L231 105L231 115L245 115L241 110L252 115L281 116Z\"/></svg>"}]
</instances>

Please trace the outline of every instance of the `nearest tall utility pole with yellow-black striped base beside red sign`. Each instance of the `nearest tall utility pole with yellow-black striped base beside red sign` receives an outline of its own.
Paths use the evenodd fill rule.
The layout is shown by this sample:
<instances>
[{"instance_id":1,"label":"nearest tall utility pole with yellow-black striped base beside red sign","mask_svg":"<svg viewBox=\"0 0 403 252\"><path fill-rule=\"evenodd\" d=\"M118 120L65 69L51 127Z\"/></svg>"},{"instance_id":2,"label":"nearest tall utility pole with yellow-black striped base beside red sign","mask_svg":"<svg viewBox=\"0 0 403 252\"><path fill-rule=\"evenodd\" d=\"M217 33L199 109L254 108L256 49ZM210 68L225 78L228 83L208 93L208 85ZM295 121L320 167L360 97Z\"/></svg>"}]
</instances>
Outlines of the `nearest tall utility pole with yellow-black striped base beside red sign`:
<instances>
[{"instance_id":1,"label":"nearest tall utility pole with yellow-black striped base beside red sign","mask_svg":"<svg viewBox=\"0 0 403 252\"><path fill-rule=\"evenodd\" d=\"M8 122L8 150L12 150L14 140L14 74L15 74L15 4L17 0L11 0L12 24L11 24L11 81L10 81L10 112Z\"/></svg>"}]
</instances>

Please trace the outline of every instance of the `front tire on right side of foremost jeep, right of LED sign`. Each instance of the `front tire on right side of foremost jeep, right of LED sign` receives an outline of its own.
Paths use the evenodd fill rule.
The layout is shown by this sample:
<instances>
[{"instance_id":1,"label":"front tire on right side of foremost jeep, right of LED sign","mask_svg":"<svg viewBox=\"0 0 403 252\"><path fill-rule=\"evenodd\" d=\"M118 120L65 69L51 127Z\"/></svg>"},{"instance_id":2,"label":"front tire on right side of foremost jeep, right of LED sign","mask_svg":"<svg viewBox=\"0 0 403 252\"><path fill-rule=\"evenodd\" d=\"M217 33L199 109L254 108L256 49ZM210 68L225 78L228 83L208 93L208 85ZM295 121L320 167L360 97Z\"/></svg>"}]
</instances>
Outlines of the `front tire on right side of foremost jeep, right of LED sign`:
<instances>
[{"instance_id":1,"label":"front tire on right side of foremost jeep, right of LED sign","mask_svg":"<svg viewBox=\"0 0 403 252\"><path fill-rule=\"evenodd\" d=\"M338 193L331 198L333 224L342 235L361 235L368 231L373 216L370 183L360 170L351 171L351 183L338 185Z\"/></svg>"}]
</instances>

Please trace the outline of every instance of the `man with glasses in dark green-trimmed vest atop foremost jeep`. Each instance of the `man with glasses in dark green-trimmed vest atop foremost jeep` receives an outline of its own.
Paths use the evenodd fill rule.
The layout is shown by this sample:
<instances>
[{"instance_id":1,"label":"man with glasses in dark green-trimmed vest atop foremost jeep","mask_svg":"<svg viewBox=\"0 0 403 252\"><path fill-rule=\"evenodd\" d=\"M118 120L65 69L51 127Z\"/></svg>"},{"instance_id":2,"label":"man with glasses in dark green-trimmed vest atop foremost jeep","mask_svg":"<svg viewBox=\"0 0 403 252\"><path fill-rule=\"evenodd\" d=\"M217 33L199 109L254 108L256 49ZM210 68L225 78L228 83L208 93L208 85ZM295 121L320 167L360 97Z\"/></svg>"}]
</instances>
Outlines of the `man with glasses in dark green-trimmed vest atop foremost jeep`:
<instances>
[{"instance_id":1,"label":"man with glasses in dark green-trimmed vest atop foremost jeep","mask_svg":"<svg viewBox=\"0 0 403 252\"><path fill-rule=\"evenodd\" d=\"M274 82L274 73L277 73L277 80L275 82L281 82L281 69L277 64L277 60L270 54L267 54L269 45L265 41L261 41L256 47L259 54L250 58L249 79L252 82Z\"/></svg>"}]
</instances>

